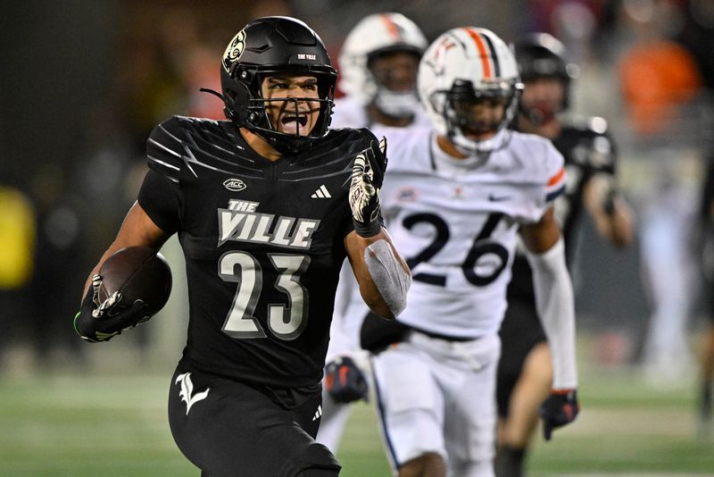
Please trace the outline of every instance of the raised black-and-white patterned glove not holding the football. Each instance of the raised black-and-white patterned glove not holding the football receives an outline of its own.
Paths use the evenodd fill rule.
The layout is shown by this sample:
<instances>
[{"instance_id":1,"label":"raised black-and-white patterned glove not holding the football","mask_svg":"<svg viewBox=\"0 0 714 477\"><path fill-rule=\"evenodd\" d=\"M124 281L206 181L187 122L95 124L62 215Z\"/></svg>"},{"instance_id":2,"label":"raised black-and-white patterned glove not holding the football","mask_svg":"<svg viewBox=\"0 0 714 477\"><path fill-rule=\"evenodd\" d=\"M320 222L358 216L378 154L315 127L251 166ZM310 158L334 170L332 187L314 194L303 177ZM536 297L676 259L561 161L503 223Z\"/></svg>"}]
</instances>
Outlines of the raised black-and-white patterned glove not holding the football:
<instances>
[{"instance_id":1,"label":"raised black-and-white patterned glove not holding the football","mask_svg":"<svg viewBox=\"0 0 714 477\"><path fill-rule=\"evenodd\" d=\"M354 230L360 237L374 237L379 223L379 189L386 171L386 138L372 141L355 158L350 181L350 208Z\"/></svg>"}]
</instances>

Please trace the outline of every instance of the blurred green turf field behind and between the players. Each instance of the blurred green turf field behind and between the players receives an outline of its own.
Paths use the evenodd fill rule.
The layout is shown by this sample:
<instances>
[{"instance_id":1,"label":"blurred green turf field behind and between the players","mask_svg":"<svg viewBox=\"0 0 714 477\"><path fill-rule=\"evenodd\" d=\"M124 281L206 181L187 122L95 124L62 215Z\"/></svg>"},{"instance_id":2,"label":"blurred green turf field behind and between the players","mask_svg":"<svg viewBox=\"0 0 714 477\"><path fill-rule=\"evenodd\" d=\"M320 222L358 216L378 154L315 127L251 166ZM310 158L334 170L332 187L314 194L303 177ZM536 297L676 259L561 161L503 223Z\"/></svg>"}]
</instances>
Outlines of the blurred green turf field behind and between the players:
<instances>
[{"instance_id":1,"label":"blurred green turf field behind and between the players","mask_svg":"<svg viewBox=\"0 0 714 477\"><path fill-rule=\"evenodd\" d=\"M657 390L632 371L581 374L583 413L539 441L531 475L714 475L693 384ZM0 475L197 477L170 436L169 380L170 370L0 376ZM369 405L355 406L339 457L345 477L388 475Z\"/></svg>"}]
</instances>

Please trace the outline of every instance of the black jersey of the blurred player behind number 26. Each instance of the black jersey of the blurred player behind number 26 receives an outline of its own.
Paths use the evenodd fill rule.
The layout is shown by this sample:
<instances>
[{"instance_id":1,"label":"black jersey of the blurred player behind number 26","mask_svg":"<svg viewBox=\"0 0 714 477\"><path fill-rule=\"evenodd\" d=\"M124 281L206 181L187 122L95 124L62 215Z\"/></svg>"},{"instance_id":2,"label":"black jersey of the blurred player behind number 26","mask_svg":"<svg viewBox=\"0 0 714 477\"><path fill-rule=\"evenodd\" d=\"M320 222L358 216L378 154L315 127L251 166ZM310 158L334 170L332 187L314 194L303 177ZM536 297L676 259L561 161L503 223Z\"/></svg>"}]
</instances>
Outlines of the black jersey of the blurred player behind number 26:
<instances>
[{"instance_id":1,"label":"black jersey of the blurred player behind number 26","mask_svg":"<svg viewBox=\"0 0 714 477\"><path fill-rule=\"evenodd\" d=\"M617 151L602 118L564 125L552 144L565 158L565 191L555 200L555 216L570 263L576 247L577 223L583 213L585 184L596 174L615 174ZM509 296L533 297L533 280L525 255L516 255L512 276Z\"/></svg>"}]
</instances>

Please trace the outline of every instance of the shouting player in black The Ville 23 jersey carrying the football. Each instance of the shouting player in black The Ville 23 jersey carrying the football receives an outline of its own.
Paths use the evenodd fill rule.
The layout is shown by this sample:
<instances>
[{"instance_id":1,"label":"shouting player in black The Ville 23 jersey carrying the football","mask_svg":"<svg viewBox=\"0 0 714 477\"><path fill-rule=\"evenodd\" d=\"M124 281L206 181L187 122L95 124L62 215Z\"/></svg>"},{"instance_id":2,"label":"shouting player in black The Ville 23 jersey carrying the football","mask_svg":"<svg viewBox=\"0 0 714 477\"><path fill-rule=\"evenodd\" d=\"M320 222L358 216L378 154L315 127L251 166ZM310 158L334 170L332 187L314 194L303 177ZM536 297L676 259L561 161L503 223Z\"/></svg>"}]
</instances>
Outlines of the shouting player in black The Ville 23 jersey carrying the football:
<instances>
[{"instance_id":1,"label":"shouting player in black The Ville 23 jersey carrying the football","mask_svg":"<svg viewBox=\"0 0 714 477\"><path fill-rule=\"evenodd\" d=\"M336 71L302 21L252 21L228 44L230 121L175 116L147 143L137 203L87 280L80 336L111 339L143 303L98 303L100 265L122 247L179 234L187 262L187 346L170 382L170 427L202 475L336 476L315 442L340 266L394 318L411 275L381 227L386 144L328 131Z\"/></svg>"}]
</instances>

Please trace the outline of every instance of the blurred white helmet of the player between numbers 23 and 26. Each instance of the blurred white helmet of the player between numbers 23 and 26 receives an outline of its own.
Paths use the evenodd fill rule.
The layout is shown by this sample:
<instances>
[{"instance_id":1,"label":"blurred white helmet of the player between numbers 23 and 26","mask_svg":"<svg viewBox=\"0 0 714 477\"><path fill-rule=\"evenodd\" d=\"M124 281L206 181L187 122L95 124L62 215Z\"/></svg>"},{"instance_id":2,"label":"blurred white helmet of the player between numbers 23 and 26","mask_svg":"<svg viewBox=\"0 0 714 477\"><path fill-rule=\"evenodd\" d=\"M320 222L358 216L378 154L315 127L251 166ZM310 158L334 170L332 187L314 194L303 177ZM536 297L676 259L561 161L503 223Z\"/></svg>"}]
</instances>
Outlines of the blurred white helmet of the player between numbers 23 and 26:
<instances>
[{"instance_id":1,"label":"blurred white helmet of the player between numbers 23 and 26","mask_svg":"<svg viewBox=\"0 0 714 477\"><path fill-rule=\"evenodd\" d=\"M419 105L416 91L395 92L380 88L369 71L369 58L389 52L424 53L427 38L416 23L402 13L374 13L364 17L345 38L339 55L340 89L361 105L377 105L395 117L414 113Z\"/></svg>"}]
</instances>

